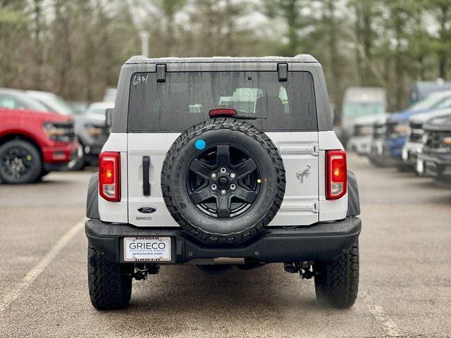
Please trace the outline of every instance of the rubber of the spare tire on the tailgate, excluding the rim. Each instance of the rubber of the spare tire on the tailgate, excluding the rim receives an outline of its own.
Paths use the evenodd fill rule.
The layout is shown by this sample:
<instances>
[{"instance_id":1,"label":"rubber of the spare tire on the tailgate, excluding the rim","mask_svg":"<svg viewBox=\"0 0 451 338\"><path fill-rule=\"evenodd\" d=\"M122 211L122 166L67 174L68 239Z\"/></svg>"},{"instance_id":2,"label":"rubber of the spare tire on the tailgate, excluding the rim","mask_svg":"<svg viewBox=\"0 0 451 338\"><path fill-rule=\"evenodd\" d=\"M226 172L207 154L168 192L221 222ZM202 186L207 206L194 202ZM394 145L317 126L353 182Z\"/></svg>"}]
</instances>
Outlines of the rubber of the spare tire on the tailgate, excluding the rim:
<instances>
[{"instance_id":1,"label":"rubber of the spare tire on the tailgate, excluding the rim","mask_svg":"<svg viewBox=\"0 0 451 338\"><path fill-rule=\"evenodd\" d=\"M268 156L268 162L266 162L268 168L265 168L265 170L270 174L268 174L267 182L268 184L273 184L271 185L273 188L271 188L271 190L266 189L266 193L261 196L261 201L264 202L259 202L260 206L264 203L265 207L255 208L253 210L255 213L254 215L257 215L258 213L259 218L252 222L252 224L241 223L242 229L233 232L228 232L230 227L228 227L227 223L218 223L223 225L223 227L221 227L221 232L206 230L206 223L214 224L214 222L221 222L221 220L217 221L215 218L208 219L209 216L206 215L199 215L197 218L192 217L191 219L187 219L187 217L184 217L183 215L183 213L186 213L187 208L190 208L190 205L188 204L190 204L191 201L180 197L180 193L184 193L180 182L183 181L183 170L187 170L187 168L183 168L183 166L178 163L187 161L186 158L188 155L186 152L183 154L185 148L194 149L194 141L196 139L199 139L199 137L208 137L208 135L211 135L211 132L215 131L227 132L229 134L240 132L245 134L254 147L258 144L259 149L265 154L265 157ZM255 142L258 143L255 144ZM231 143L233 144L233 139L231 140ZM271 180L271 183L269 183L269 180ZM176 184L179 184L180 187L178 185L175 188L174 186ZM285 194L285 169L277 147L264 132L261 132L256 127L243 120L215 118L190 127L190 129L183 132L180 137L175 140L163 162L163 168L161 170L161 190L168 211L180 225L182 230L187 232L187 234L190 234L190 236L205 243L244 242L261 232L278 212ZM180 212L180 210L183 212ZM233 219L235 220L235 218ZM240 220L240 216L237 216L237 220ZM237 220L234 221L235 225L237 224ZM202 222L204 222L204 228L202 228Z\"/></svg>"}]
</instances>

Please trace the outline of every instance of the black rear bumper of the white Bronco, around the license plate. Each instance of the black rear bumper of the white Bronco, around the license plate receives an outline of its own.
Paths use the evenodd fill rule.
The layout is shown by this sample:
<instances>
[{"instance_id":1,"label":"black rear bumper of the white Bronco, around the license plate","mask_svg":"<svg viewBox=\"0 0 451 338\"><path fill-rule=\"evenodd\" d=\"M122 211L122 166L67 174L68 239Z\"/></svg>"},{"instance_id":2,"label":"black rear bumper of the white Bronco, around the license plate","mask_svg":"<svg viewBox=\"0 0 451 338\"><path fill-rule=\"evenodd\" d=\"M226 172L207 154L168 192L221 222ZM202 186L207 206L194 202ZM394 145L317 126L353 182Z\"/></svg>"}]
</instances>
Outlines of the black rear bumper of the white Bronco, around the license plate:
<instances>
[{"instance_id":1,"label":"black rear bumper of the white Bronco, around the license plate","mask_svg":"<svg viewBox=\"0 0 451 338\"><path fill-rule=\"evenodd\" d=\"M332 223L308 227L267 227L259 237L235 246L201 244L180 230L140 228L132 225L87 220L85 231L89 243L111 261L123 261L124 237L171 237L171 262L187 263L194 259L245 258L261 263L290 261L327 261L350 248L359 237L362 222L347 217Z\"/></svg>"}]
</instances>

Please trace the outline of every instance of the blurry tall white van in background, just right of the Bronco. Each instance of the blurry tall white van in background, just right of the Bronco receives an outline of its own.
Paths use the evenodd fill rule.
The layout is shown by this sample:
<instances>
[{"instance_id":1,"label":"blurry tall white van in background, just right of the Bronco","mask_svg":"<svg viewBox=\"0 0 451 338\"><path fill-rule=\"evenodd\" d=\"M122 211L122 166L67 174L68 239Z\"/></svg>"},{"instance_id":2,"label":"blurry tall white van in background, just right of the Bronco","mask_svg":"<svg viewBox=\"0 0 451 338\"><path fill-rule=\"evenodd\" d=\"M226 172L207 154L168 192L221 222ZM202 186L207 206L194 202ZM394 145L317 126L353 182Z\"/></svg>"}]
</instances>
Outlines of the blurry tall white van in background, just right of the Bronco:
<instances>
[{"instance_id":1,"label":"blurry tall white van in background, just right of the Bronco","mask_svg":"<svg viewBox=\"0 0 451 338\"><path fill-rule=\"evenodd\" d=\"M340 133L344 139L345 148L349 149L351 137L354 136L354 124L357 119L367 118L367 123L385 115L387 96L385 89L379 87L350 87L346 89L342 104ZM370 132L371 133L371 132ZM354 139L353 146L359 144L360 139Z\"/></svg>"}]
</instances>

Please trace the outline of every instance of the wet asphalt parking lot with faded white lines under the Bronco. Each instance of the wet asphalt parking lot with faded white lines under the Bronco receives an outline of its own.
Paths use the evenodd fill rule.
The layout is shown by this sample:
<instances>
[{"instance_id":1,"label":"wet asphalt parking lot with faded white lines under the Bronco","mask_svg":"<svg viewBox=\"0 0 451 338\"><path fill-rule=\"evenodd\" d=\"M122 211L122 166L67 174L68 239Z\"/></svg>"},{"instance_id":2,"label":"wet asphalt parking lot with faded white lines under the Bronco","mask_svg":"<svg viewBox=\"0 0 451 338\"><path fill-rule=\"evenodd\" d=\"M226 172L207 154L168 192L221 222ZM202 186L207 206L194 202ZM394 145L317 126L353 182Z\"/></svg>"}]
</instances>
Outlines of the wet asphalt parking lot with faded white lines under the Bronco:
<instances>
[{"instance_id":1,"label":"wet asphalt parking lot with faded white lines under the Bronco","mask_svg":"<svg viewBox=\"0 0 451 338\"><path fill-rule=\"evenodd\" d=\"M87 293L82 222L91 172L0 186L0 337L450 337L451 191L350 156L362 206L359 296L316 303L281 265L206 275L161 268L131 306L99 312Z\"/></svg>"}]
</instances>

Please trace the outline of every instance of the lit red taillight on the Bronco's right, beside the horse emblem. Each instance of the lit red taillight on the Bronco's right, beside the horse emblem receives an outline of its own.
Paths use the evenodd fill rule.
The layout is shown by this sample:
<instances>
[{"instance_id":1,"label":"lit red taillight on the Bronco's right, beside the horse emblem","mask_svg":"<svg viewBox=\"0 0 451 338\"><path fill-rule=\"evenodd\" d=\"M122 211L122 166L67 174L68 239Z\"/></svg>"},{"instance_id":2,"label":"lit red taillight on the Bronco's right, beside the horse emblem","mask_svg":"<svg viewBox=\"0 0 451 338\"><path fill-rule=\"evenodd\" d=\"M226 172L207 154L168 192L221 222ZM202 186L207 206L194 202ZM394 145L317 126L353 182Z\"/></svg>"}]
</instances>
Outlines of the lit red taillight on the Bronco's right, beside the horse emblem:
<instances>
[{"instance_id":1,"label":"lit red taillight on the Bronco's right, beside the horse emblem","mask_svg":"<svg viewBox=\"0 0 451 338\"><path fill-rule=\"evenodd\" d=\"M326 158L326 198L339 199L347 189L346 153L330 150L326 152Z\"/></svg>"}]
</instances>

